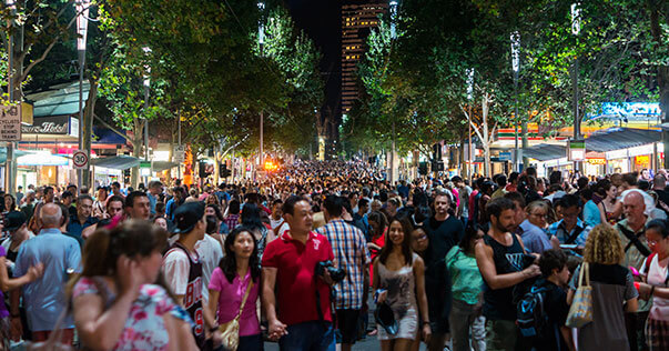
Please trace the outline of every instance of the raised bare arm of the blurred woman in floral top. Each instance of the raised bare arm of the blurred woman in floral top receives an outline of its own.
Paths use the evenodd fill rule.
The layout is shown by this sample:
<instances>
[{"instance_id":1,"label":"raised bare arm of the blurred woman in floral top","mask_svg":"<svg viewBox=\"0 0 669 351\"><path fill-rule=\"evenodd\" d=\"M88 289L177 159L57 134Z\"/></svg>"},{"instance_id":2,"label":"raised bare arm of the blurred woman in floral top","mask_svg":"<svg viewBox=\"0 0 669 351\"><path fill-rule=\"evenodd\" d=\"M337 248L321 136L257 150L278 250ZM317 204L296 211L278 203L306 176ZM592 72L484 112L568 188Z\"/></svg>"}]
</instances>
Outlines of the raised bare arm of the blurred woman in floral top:
<instances>
[{"instance_id":1,"label":"raised bare arm of the blurred woman in floral top","mask_svg":"<svg viewBox=\"0 0 669 351\"><path fill-rule=\"evenodd\" d=\"M116 344L142 287L143 274L136 261L122 255L116 265L118 272L123 272L119 275L120 293L108 310L104 310L102 297L95 293L85 293L73 300L72 314L79 338L93 350L110 350Z\"/></svg>"}]
</instances>

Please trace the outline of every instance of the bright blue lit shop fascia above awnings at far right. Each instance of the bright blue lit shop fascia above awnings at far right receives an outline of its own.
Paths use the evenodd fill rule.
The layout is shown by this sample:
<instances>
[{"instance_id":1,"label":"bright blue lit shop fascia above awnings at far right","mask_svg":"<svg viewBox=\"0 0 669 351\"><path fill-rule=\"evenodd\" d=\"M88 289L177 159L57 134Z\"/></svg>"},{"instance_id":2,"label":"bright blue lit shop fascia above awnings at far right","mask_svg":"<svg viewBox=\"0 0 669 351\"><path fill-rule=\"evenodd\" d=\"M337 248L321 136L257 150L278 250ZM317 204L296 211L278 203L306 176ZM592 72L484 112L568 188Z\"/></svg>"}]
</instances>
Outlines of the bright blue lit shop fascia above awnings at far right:
<instances>
[{"instance_id":1,"label":"bright blue lit shop fascia above awnings at far right","mask_svg":"<svg viewBox=\"0 0 669 351\"><path fill-rule=\"evenodd\" d=\"M607 152L640 147L662 140L662 133L652 129L609 128L586 139L588 151Z\"/></svg>"}]
</instances>

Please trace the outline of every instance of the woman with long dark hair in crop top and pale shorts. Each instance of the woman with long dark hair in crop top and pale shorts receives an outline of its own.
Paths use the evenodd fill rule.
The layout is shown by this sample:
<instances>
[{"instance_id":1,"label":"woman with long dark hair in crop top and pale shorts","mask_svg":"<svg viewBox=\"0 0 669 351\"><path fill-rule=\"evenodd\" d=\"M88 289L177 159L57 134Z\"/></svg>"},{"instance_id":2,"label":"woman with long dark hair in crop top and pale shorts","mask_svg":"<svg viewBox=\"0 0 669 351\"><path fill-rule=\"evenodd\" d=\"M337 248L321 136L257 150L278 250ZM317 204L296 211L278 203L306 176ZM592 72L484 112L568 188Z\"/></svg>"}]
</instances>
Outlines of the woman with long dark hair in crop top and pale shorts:
<instances>
[{"instance_id":1,"label":"woman with long dark hair in crop top and pale shorts","mask_svg":"<svg viewBox=\"0 0 669 351\"><path fill-rule=\"evenodd\" d=\"M377 325L383 351L410 350L418 333L422 333L425 342L429 342L432 334L427 319L429 314L425 294L425 263L412 251L412 230L408 218L393 218L386 244L373 263L377 302L386 303L391 308L398 325L395 334L388 333L383 325ZM423 317L420 323L418 310Z\"/></svg>"}]
</instances>

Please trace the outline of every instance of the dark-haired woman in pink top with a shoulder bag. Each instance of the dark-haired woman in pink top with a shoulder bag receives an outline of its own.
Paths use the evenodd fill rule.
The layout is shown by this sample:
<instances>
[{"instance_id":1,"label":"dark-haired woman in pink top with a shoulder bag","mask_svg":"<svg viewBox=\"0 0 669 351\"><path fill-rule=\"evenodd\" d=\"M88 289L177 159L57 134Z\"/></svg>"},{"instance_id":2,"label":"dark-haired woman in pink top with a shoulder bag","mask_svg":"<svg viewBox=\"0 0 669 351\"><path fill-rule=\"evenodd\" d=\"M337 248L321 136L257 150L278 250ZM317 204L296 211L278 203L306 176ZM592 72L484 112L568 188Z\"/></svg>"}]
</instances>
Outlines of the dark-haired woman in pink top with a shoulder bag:
<instances>
[{"instance_id":1,"label":"dark-haired woman in pink top with a shoulder bag","mask_svg":"<svg viewBox=\"0 0 669 351\"><path fill-rule=\"evenodd\" d=\"M225 238L225 257L214 269L209 283L209 309L220 324L232 321L240 313L249 284L251 290L240 317L240 345L237 351L262 351L256 303L260 291L260 261L252 231L235 228ZM215 333L220 337L220 332Z\"/></svg>"}]
</instances>

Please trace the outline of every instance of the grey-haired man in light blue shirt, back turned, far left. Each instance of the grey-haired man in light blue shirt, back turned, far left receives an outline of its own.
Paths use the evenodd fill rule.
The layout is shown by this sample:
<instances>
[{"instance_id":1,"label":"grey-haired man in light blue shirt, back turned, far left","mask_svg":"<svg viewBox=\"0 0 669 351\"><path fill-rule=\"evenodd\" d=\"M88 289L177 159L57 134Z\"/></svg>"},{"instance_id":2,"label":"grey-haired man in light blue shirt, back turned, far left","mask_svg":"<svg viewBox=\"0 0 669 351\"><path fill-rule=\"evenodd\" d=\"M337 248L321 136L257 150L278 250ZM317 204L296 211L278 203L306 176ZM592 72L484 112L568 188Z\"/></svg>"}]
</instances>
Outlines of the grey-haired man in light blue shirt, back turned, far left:
<instances>
[{"instance_id":1,"label":"grey-haired man in light blue shirt, back turned, far left","mask_svg":"<svg viewBox=\"0 0 669 351\"><path fill-rule=\"evenodd\" d=\"M92 205L92 201L90 204ZM42 230L39 235L23 242L14 264L14 277L26 274L37 262L44 264L42 278L11 293L12 325L21 332L19 300L22 293L33 341L44 341L49 338L67 308L63 287L71 274L81 272L81 250L77 240L63 235L59 230L62 215L58 204L47 203L42 207ZM72 318L65 318L60 328L64 329L63 340L71 343L74 337Z\"/></svg>"}]
</instances>

